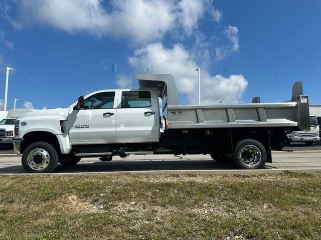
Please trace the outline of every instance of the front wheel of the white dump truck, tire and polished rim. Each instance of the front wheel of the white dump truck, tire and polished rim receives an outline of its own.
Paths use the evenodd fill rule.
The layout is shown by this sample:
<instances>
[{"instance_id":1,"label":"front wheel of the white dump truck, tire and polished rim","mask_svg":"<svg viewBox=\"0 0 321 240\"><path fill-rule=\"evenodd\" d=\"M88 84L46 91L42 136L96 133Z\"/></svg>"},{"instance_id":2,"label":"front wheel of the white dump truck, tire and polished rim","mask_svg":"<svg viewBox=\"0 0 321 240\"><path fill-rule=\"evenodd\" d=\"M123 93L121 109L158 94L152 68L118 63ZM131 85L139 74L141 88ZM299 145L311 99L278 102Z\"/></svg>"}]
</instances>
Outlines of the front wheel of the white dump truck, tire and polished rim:
<instances>
[{"instance_id":1,"label":"front wheel of the white dump truck, tire and polished rim","mask_svg":"<svg viewBox=\"0 0 321 240\"><path fill-rule=\"evenodd\" d=\"M27 146L21 158L24 169L30 173L53 172L58 161L58 153L53 145L43 141Z\"/></svg>"}]
</instances>

